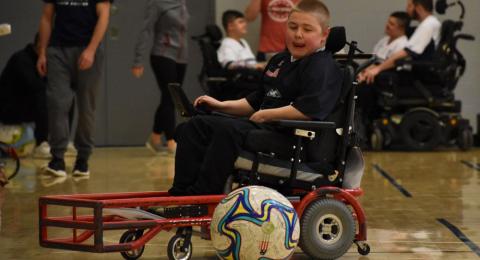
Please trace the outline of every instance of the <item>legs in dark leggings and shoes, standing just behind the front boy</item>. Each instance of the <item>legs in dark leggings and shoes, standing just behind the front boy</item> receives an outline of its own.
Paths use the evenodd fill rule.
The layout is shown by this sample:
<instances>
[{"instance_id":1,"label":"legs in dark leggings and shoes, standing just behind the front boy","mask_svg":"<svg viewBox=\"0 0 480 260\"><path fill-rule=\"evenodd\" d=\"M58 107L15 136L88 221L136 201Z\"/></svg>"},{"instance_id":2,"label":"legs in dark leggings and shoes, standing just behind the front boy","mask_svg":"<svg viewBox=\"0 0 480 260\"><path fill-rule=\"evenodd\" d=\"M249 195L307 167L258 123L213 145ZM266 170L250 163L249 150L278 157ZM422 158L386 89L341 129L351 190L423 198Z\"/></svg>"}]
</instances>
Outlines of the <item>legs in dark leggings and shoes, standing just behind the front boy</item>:
<instances>
[{"instance_id":1,"label":"legs in dark leggings and shoes, standing just behind the front boy","mask_svg":"<svg viewBox=\"0 0 480 260\"><path fill-rule=\"evenodd\" d=\"M151 56L150 61L161 91L160 104L154 117L151 142L153 146L158 146L161 143L161 134L165 134L169 148L174 150L175 107L168 84L175 82L182 84L186 65L178 64L171 59L160 56Z\"/></svg>"}]
</instances>

